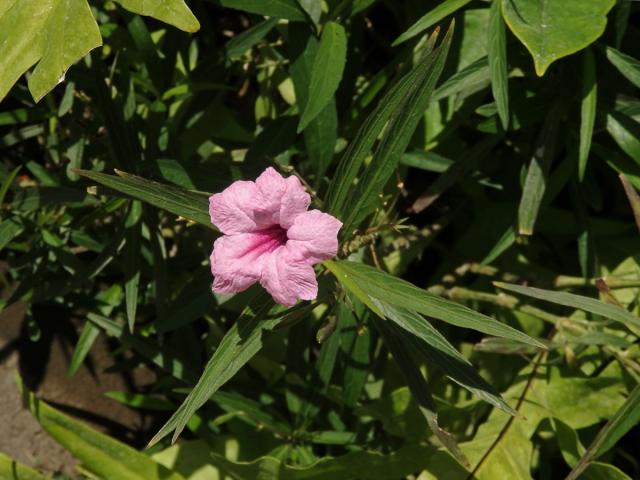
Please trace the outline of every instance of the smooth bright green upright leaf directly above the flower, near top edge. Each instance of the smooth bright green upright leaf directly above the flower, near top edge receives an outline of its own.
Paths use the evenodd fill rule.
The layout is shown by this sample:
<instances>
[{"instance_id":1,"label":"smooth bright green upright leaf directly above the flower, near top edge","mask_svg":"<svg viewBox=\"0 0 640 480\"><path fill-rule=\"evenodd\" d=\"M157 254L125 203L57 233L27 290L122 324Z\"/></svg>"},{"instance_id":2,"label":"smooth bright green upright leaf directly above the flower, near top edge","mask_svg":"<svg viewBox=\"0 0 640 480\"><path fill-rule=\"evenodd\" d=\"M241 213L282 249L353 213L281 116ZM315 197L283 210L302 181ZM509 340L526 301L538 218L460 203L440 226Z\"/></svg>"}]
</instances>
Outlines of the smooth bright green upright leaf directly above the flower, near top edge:
<instances>
[{"instance_id":1,"label":"smooth bright green upright leaf directly above the flower, near top edge","mask_svg":"<svg viewBox=\"0 0 640 480\"><path fill-rule=\"evenodd\" d=\"M342 25L327 23L320 36L309 78L308 100L300 115L298 132L303 131L333 98L342 80L347 59L347 35Z\"/></svg>"}]
</instances>

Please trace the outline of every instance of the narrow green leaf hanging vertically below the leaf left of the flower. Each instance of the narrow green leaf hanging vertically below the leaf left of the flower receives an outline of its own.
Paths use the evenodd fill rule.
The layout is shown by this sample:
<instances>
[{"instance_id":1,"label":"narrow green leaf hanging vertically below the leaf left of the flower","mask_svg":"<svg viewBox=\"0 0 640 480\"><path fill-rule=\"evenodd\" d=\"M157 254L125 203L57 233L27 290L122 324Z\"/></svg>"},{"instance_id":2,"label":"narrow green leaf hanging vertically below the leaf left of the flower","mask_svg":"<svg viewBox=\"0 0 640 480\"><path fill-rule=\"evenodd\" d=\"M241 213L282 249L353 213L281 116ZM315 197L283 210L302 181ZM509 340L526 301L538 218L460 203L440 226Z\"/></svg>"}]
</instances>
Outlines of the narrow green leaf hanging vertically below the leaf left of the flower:
<instances>
[{"instance_id":1,"label":"narrow green leaf hanging vertically below the leaf left of the flower","mask_svg":"<svg viewBox=\"0 0 640 480\"><path fill-rule=\"evenodd\" d=\"M131 202L131 208L124 224L124 260L125 280L124 299L127 310L129 331L133 333L138 309L138 287L140 284L140 237L142 235L142 204L138 200Z\"/></svg>"}]
</instances>

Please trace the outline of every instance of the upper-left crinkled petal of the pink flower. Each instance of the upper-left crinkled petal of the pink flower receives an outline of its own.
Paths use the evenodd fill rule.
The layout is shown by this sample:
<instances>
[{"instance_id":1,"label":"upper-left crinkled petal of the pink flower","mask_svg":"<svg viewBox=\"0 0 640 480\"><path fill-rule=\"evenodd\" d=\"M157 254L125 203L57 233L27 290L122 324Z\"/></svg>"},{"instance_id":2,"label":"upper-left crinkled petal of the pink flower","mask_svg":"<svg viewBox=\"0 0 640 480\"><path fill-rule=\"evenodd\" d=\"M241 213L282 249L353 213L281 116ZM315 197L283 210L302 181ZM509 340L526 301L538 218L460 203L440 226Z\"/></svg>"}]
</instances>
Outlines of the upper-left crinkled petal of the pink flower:
<instances>
[{"instance_id":1,"label":"upper-left crinkled petal of the pink flower","mask_svg":"<svg viewBox=\"0 0 640 480\"><path fill-rule=\"evenodd\" d=\"M263 203L254 182L234 182L221 193L209 197L211 222L227 235L252 232L260 226L256 210Z\"/></svg>"}]
</instances>

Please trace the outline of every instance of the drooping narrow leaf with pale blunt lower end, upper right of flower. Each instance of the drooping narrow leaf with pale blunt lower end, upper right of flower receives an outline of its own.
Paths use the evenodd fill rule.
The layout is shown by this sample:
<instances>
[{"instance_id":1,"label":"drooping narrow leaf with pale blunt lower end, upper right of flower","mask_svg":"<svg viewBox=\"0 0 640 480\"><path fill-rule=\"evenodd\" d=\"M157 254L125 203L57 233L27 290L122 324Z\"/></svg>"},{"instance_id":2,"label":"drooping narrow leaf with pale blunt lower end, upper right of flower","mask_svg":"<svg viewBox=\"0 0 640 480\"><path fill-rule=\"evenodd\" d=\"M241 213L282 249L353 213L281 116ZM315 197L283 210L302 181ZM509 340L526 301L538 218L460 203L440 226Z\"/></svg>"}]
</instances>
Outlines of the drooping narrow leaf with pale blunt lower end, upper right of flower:
<instances>
[{"instance_id":1,"label":"drooping narrow leaf with pale blunt lower end, upper right of flower","mask_svg":"<svg viewBox=\"0 0 640 480\"><path fill-rule=\"evenodd\" d=\"M533 227L547 188L547 177L555 153L560 114L560 109L557 106L550 110L534 147L518 206L518 233L520 235L533 234Z\"/></svg>"}]
</instances>

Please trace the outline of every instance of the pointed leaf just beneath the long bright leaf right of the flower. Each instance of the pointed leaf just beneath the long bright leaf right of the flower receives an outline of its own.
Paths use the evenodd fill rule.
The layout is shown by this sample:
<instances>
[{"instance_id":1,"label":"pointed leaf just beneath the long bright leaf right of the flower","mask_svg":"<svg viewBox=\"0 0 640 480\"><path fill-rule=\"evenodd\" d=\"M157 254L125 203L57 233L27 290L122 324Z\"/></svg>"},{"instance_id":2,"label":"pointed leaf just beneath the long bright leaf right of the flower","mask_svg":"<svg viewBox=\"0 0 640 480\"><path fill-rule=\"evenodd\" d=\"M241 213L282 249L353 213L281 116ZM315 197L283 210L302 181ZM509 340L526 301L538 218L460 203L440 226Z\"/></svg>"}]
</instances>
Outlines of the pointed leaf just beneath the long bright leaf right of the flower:
<instances>
[{"instance_id":1,"label":"pointed leaf just beneath the long bright leaf right of the flower","mask_svg":"<svg viewBox=\"0 0 640 480\"><path fill-rule=\"evenodd\" d=\"M410 310L392 307L380 301L377 303L389 320L411 334L396 333L402 338L402 343L406 344L407 348L413 348L425 361L436 365L451 380L485 402L507 413L515 413L500 394L473 368L469 360L458 352L428 320Z\"/></svg>"}]
</instances>

